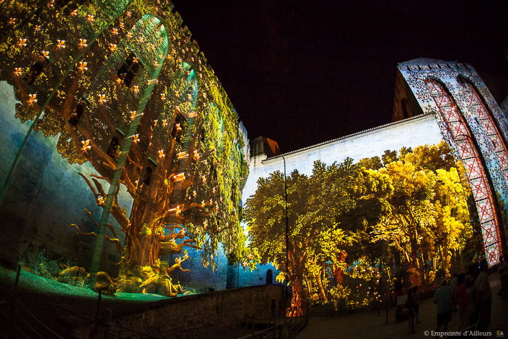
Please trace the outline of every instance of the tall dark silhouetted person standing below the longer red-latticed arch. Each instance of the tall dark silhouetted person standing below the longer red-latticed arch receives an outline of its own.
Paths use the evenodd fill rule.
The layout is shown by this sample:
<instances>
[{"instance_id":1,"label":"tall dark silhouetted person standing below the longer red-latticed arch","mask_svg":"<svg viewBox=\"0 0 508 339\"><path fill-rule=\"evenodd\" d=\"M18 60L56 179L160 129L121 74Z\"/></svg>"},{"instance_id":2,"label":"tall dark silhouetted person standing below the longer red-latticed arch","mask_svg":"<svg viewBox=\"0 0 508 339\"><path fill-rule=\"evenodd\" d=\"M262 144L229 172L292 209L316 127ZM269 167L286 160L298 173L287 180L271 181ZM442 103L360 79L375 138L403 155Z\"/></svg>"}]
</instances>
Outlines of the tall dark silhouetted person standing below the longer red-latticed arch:
<instances>
[{"instance_id":1,"label":"tall dark silhouetted person standing below the longer red-latticed arch","mask_svg":"<svg viewBox=\"0 0 508 339\"><path fill-rule=\"evenodd\" d=\"M487 331L490 325L490 312L492 305L492 292L489 285L487 270L489 265L486 259L480 261L480 274L473 285L473 293L478 307L478 331Z\"/></svg>"}]
</instances>

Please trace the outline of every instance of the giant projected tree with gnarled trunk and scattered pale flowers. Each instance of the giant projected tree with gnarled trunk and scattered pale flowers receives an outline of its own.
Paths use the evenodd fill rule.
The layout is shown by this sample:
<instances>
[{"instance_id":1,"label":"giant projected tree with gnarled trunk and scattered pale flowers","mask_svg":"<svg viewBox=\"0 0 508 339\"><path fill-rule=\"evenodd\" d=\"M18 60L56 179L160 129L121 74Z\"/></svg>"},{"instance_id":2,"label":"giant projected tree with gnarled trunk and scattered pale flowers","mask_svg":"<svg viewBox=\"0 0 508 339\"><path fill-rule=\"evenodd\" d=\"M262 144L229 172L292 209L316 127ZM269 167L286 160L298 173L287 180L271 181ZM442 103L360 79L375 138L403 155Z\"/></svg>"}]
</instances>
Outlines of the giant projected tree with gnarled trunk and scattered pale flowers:
<instances>
[{"instance_id":1,"label":"giant projected tree with gnarled trunk and scattered pale flowers","mask_svg":"<svg viewBox=\"0 0 508 339\"><path fill-rule=\"evenodd\" d=\"M105 239L122 255L115 263L120 281L109 283L174 295L169 275L185 270L185 248L202 250L205 266L216 267L219 243L243 257L237 209L247 176L244 139L190 33L179 17L166 17L170 5L151 5L160 12L154 16L144 14L142 3L117 2L107 8L50 3L19 26L2 26L1 79L20 102L16 117L33 120L25 141L32 128L59 133L62 157L90 162L96 171L79 174L102 215L85 210L93 232L71 226L79 237L97 238L91 272L99 269ZM130 215L120 190L133 199ZM126 234L125 244L118 232ZM179 253L174 264L159 261Z\"/></svg>"}]
</instances>

